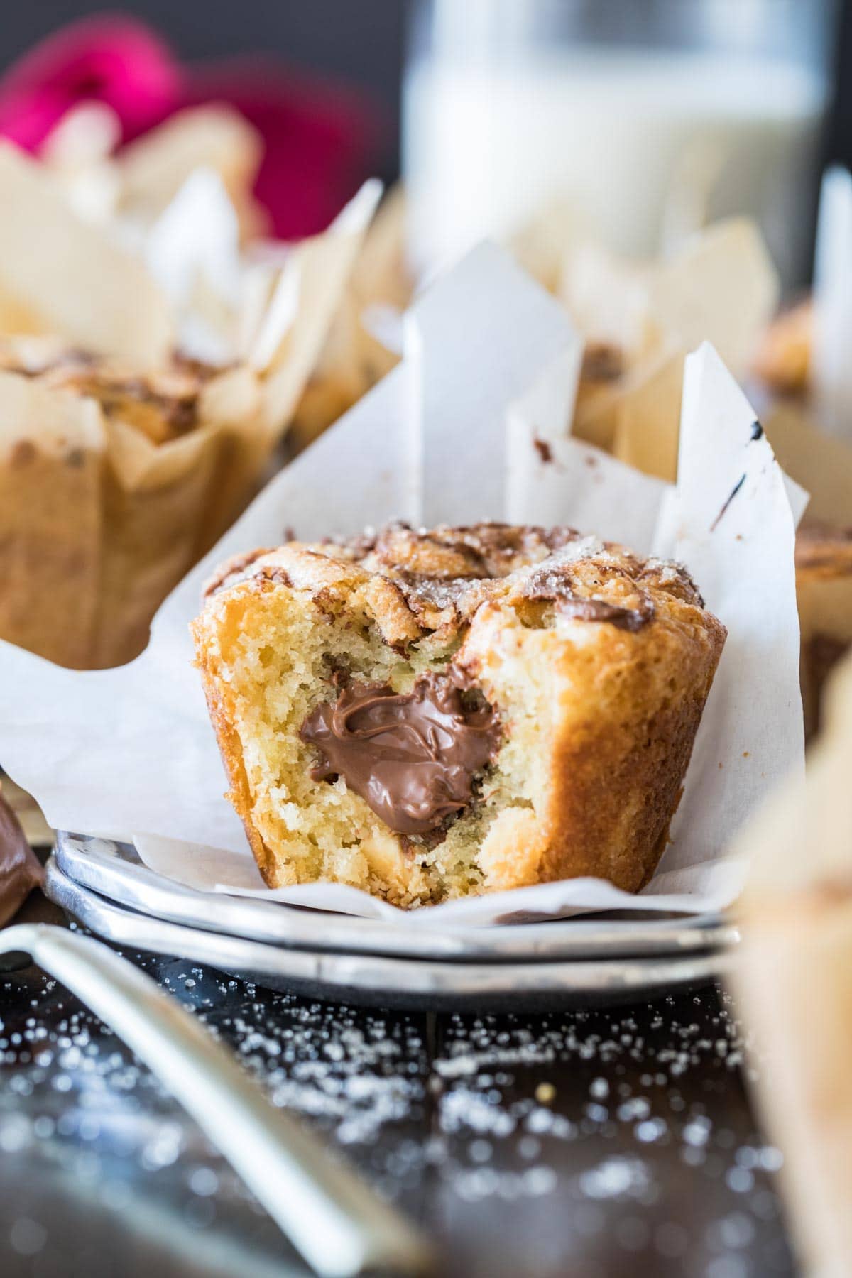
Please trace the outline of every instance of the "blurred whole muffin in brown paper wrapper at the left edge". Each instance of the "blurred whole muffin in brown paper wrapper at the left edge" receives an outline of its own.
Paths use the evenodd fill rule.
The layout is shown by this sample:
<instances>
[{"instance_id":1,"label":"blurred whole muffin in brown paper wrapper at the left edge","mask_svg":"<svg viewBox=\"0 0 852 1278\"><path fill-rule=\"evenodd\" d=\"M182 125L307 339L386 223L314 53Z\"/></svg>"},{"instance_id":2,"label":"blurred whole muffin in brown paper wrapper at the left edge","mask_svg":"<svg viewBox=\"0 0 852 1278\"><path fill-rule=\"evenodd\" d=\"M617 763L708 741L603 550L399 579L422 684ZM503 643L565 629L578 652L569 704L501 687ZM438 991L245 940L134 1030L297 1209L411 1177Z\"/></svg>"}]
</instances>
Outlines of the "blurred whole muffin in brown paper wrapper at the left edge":
<instances>
[{"instance_id":1,"label":"blurred whole muffin in brown paper wrapper at the left edge","mask_svg":"<svg viewBox=\"0 0 852 1278\"><path fill-rule=\"evenodd\" d=\"M137 657L257 491L262 394L245 366L0 337L0 638L83 670Z\"/></svg>"}]
</instances>

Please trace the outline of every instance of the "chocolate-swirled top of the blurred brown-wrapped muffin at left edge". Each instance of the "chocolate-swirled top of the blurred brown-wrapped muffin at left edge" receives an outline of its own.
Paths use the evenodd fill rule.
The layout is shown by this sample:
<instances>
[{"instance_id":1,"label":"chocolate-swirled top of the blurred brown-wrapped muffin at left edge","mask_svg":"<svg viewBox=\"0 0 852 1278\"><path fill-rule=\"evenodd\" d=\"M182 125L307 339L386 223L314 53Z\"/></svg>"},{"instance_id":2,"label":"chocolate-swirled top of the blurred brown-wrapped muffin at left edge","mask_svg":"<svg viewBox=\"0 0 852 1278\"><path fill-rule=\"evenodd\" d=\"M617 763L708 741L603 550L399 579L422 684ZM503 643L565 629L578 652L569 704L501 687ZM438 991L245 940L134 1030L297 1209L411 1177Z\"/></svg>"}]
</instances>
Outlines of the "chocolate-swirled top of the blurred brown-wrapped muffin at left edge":
<instances>
[{"instance_id":1,"label":"chocolate-swirled top of the blurred brown-wrapped muffin at left edge","mask_svg":"<svg viewBox=\"0 0 852 1278\"><path fill-rule=\"evenodd\" d=\"M198 424L198 397L220 369L175 354L166 368L139 372L125 362L77 350L52 337L0 340L0 369L54 390L96 399L107 418L164 443Z\"/></svg>"}]
</instances>

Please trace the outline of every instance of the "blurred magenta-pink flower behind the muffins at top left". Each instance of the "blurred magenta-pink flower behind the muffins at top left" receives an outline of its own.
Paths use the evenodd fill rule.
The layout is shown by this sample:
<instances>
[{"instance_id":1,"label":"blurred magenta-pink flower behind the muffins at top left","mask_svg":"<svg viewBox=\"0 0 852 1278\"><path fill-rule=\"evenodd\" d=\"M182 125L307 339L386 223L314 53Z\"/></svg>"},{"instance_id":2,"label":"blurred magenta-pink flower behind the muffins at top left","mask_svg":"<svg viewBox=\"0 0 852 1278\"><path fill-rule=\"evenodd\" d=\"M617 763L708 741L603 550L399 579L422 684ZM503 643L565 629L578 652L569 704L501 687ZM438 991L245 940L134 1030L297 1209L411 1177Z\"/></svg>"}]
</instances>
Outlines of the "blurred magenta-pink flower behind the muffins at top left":
<instances>
[{"instance_id":1,"label":"blurred magenta-pink flower behind the muffins at top left","mask_svg":"<svg viewBox=\"0 0 852 1278\"><path fill-rule=\"evenodd\" d=\"M84 101L115 111L123 142L185 106L236 107L263 135L255 194L282 239L328 225L368 176L382 134L372 104L356 91L262 56L184 66L148 27L119 15L73 23L11 66L0 79L0 134L38 151Z\"/></svg>"}]
</instances>

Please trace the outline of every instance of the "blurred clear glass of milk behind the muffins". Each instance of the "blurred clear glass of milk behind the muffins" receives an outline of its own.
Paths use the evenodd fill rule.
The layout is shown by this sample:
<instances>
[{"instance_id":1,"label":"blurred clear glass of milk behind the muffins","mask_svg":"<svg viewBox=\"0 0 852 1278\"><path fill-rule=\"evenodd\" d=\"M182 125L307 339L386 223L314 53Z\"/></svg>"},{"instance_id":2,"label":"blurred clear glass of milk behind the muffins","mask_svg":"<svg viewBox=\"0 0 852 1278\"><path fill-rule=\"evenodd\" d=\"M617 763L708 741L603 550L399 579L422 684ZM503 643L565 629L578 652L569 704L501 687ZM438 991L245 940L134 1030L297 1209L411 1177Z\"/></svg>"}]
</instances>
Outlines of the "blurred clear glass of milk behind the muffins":
<instances>
[{"instance_id":1,"label":"blurred clear glass of milk behind the muffins","mask_svg":"<svg viewBox=\"0 0 852 1278\"><path fill-rule=\"evenodd\" d=\"M416 0L402 164L415 271L567 199L611 248L757 219L805 279L835 0Z\"/></svg>"}]
</instances>

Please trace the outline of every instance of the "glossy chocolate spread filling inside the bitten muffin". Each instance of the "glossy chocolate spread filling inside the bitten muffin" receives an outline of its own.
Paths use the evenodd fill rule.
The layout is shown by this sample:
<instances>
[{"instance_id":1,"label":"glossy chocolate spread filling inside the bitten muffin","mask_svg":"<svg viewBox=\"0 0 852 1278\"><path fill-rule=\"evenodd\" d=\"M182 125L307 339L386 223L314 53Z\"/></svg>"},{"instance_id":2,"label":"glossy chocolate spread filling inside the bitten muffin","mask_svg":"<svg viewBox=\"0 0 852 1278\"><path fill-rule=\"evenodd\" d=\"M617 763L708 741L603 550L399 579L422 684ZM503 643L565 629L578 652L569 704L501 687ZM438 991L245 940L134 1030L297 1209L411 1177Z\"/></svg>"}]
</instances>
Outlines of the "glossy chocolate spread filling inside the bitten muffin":
<instances>
[{"instance_id":1,"label":"glossy chocolate spread filling inside the bitten muffin","mask_svg":"<svg viewBox=\"0 0 852 1278\"><path fill-rule=\"evenodd\" d=\"M351 684L312 711L299 735L319 751L314 781L344 777L400 835L428 835L466 808L501 741L493 708L452 666L420 675L410 693Z\"/></svg>"}]
</instances>

